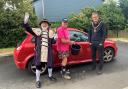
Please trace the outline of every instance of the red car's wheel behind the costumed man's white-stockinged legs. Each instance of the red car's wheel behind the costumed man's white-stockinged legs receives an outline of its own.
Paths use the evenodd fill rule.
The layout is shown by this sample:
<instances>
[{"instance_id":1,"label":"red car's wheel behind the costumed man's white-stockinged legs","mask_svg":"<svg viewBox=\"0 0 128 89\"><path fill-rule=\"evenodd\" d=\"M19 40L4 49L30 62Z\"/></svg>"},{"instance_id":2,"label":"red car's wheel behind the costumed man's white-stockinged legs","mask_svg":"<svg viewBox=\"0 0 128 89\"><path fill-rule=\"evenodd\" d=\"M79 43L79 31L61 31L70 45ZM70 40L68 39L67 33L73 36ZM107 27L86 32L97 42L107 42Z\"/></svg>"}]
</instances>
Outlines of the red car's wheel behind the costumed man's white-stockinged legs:
<instances>
[{"instance_id":1,"label":"red car's wheel behind the costumed man's white-stockinged legs","mask_svg":"<svg viewBox=\"0 0 128 89\"><path fill-rule=\"evenodd\" d=\"M33 73L36 74L36 66L33 64L33 60L30 60L28 63L28 70ZM47 70L47 64L43 64L42 70L41 70L41 74L46 73Z\"/></svg>"}]
</instances>

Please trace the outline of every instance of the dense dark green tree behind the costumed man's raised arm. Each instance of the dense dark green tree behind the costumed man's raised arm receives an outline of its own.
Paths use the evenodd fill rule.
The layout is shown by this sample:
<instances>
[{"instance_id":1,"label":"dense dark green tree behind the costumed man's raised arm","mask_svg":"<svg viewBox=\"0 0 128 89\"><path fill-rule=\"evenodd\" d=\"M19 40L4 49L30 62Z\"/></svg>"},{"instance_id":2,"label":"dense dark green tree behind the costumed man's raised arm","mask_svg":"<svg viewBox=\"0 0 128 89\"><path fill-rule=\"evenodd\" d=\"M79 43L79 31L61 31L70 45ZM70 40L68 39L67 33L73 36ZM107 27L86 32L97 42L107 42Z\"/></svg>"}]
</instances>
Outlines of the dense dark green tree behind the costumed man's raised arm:
<instances>
[{"instance_id":1,"label":"dense dark green tree behind the costumed man's raised arm","mask_svg":"<svg viewBox=\"0 0 128 89\"><path fill-rule=\"evenodd\" d=\"M25 12L31 15L30 24L37 26L31 1L1 0L0 7L0 48L15 46L16 40L20 42L26 36L22 27Z\"/></svg>"}]
</instances>

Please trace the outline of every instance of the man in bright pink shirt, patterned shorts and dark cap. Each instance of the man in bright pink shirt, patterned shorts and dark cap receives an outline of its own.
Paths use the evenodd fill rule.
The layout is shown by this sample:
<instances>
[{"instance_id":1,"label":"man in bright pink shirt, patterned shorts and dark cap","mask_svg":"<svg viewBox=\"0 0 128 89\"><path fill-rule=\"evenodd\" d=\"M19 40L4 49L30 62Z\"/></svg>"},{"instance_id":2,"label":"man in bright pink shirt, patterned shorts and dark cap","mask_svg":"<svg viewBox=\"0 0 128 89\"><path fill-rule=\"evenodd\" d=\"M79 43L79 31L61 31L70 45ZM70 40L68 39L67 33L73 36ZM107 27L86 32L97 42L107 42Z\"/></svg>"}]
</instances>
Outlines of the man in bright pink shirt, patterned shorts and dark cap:
<instances>
[{"instance_id":1,"label":"man in bright pink shirt, patterned shorts and dark cap","mask_svg":"<svg viewBox=\"0 0 128 89\"><path fill-rule=\"evenodd\" d=\"M62 59L62 68L61 74L62 77L65 79L71 79L70 72L67 72L66 65L67 65L67 58L69 57L69 46L71 43L69 31L67 30L68 27L68 20L64 18L62 20L61 26L57 29L57 50L58 50L58 57Z\"/></svg>"}]
</instances>

